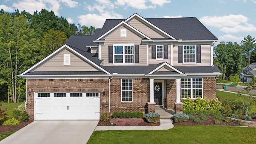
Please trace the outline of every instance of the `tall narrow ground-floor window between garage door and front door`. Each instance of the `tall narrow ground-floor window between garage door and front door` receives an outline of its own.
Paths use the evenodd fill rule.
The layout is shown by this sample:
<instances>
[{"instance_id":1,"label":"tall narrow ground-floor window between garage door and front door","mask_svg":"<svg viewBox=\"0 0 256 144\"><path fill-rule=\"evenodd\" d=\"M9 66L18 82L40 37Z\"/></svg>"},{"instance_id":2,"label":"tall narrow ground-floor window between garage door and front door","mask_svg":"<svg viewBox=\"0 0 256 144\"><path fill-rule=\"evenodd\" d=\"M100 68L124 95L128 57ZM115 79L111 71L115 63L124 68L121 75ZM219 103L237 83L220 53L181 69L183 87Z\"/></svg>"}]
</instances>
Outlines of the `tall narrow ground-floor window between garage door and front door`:
<instances>
[{"instance_id":1,"label":"tall narrow ground-floor window between garage door and front door","mask_svg":"<svg viewBox=\"0 0 256 144\"><path fill-rule=\"evenodd\" d=\"M121 102L132 102L132 79L121 79Z\"/></svg>"}]
</instances>

